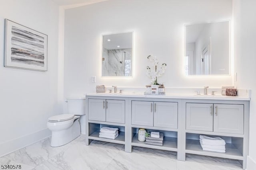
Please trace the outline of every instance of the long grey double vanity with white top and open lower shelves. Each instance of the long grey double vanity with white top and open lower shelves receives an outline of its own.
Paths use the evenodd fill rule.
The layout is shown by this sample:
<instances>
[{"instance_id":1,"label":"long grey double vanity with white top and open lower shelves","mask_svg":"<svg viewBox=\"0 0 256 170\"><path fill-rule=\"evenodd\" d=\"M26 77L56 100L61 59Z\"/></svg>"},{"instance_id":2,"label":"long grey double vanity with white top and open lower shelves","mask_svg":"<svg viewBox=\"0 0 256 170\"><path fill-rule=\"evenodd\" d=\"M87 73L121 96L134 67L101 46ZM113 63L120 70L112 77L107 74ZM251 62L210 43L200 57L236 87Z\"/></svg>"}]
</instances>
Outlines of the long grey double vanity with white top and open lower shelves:
<instances>
[{"instance_id":1,"label":"long grey double vanity with white top and open lower shelves","mask_svg":"<svg viewBox=\"0 0 256 170\"><path fill-rule=\"evenodd\" d=\"M240 160L246 169L249 133L249 100L238 96L144 96L88 94L86 96L86 145L91 140ZM116 139L100 138L102 127L118 127ZM164 133L163 146L138 141L138 129ZM226 153L202 150L199 135L221 137Z\"/></svg>"}]
</instances>

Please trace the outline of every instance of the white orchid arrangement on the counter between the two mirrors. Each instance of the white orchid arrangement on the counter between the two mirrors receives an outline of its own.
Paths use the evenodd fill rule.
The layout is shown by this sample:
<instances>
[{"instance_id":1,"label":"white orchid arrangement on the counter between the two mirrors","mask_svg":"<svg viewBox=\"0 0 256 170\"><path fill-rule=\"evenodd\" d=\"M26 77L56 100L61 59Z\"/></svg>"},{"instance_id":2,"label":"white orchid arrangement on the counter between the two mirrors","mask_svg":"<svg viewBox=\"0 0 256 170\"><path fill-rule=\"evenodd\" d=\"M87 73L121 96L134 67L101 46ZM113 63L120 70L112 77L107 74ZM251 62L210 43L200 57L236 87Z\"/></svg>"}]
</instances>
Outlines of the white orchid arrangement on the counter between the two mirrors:
<instances>
[{"instance_id":1,"label":"white orchid arrangement on the counter between the two mirrors","mask_svg":"<svg viewBox=\"0 0 256 170\"><path fill-rule=\"evenodd\" d=\"M151 55L148 56L148 61L151 65L147 66L147 75L151 78L152 84L159 85L157 82L157 77L160 77L164 74L166 69L166 63L158 66L158 59L156 58L156 56L152 57Z\"/></svg>"}]
</instances>

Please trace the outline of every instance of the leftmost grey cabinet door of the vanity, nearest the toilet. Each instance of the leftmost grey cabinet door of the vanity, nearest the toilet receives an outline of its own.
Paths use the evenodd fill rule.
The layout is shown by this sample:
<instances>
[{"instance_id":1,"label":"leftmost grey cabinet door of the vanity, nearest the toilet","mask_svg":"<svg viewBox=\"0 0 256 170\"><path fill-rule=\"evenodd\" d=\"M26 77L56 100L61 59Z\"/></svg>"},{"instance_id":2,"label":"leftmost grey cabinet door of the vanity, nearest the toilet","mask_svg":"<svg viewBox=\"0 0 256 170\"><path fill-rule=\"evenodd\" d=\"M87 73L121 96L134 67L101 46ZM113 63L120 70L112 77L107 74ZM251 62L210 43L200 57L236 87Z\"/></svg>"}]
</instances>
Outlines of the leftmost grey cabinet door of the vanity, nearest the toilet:
<instances>
[{"instance_id":1,"label":"leftmost grey cabinet door of the vanity, nearest the toilet","mask_svg":"<svg viewBox=\"0 0 256 170\"><path fill-rule=\"evenodd\" d=\"M106 121L106 100L88 99L88 120Z\"/></svg>"}]
</instances>

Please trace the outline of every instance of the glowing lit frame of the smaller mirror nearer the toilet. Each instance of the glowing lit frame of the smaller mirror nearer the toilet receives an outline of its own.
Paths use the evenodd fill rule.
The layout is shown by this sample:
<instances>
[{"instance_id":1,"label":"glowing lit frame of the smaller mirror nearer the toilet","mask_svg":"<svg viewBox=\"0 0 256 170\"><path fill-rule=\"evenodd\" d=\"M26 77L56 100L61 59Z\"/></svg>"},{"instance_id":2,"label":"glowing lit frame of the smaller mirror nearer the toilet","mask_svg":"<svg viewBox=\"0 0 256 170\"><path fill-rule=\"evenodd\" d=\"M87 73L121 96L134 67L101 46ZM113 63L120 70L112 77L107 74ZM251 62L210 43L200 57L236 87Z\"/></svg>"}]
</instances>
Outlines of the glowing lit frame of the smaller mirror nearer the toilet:
<instances>
[{"instance_id":1,"label":"glowing lit frame of the smaller mirror nearer the toilet","mask_svg":"<svg viewBox=\"0 0 256 170\"><path fill-rule=\"evenodd\" d=\"M112 35L112 34L121 34L121 33L132 33L132 62L131 62L131 70L132 70L132 73L131 73L131 76L103 76L103 62L102 62L102 57L103 57L103 36L104 35ZM124 32L117 32L117 33L107 33L107 34L102 34L101 35L101 55L100 55L100 65L101 65L101 68L100 68L100 77L102 78L130 78L130 77L133 77L133 60L134 60L134 31L124 31Z\"/></svg>"}]
</instances>

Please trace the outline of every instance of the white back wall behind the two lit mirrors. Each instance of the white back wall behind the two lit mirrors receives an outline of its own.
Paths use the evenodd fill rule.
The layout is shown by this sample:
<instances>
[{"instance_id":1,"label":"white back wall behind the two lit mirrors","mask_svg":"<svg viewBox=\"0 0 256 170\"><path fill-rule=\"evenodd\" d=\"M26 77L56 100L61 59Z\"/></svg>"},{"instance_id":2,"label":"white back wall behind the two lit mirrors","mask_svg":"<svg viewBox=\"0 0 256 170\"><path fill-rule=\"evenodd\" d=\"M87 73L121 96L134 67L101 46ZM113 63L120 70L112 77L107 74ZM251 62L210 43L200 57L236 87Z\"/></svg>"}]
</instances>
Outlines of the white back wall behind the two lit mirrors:
<instances>
[{"instance_id":1,"label":"white back wall behind the two lit mirrors","mask_svg":"<svg viewBox=\"0 0 256 170\"><path fill-rule=\"evenodd\" d=\"M95 92L100 84L145 87L150 54L167 63L158 78L166 87L230 85L232 76L185 76L184 24L231 19L232 0L108 0L66 10L64 97ZM123 31L134 31L133 77L101 78L101 36Z\"/></svg>"}]
</instances>

